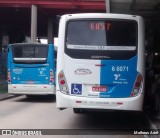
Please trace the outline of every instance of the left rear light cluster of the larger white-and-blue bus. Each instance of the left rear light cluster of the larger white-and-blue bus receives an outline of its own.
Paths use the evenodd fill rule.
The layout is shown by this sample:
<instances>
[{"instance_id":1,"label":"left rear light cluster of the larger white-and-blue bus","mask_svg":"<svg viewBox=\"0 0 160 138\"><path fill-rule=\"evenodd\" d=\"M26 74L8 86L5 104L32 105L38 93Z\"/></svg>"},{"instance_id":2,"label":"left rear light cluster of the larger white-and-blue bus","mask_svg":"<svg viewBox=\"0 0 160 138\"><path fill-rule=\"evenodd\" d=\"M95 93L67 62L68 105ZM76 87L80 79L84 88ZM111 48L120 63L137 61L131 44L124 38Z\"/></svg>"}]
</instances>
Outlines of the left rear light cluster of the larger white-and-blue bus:
<instances>
[{"instance_id":1,"label":"left rear light cluster of the larger white-and-blue bus","mask_svg":"<svg viewBox=\"0 0 160 138\"><path fill-rule=\"evenodd\" d=\"M58 83L59 83L60 91L64 94L69 94L67 81L63 71L61 71L58 75Z\"/></svg>"}]
</instances>

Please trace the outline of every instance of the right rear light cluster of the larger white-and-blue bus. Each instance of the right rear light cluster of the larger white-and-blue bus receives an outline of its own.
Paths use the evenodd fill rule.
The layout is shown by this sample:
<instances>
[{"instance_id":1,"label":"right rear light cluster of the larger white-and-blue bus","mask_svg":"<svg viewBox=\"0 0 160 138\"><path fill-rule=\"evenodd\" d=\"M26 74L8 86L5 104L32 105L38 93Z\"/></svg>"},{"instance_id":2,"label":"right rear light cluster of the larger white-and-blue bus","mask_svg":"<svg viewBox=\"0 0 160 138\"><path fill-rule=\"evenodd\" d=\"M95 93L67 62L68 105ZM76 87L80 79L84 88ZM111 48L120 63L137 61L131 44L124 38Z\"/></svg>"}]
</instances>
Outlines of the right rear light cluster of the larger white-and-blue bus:
<instances>
[{"instance_id":1,"label":"right rear light cluster of the larger white-and-blue bus","mask_svg":"<svg viewBox=\"0 0 160 138\"><path fill-rule=\"evenodd\" d=\"M143 81L142 75L139 73L134 83L131 97L134 97L140 94L141 88L142 88L142 81Z\"/></svg>"}]
</instances>

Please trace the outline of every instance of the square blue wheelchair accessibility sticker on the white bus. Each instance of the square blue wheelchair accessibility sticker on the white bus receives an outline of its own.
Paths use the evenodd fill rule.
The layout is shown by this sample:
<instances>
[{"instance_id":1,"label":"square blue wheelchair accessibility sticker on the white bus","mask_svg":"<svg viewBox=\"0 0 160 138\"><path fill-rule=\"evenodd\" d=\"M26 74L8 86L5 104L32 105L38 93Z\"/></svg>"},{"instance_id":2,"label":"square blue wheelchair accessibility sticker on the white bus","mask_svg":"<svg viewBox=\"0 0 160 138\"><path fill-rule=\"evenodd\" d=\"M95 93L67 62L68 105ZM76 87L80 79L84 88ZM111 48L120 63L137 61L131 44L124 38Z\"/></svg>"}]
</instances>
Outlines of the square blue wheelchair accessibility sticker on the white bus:
<instances>
[{"instance_id":1,"label":"square blue wheelchair accessibility sticker on the white bus","mask_svg":"<svg viewBox=\"0 0 160 138\"><path fill-rule=\"evenodd\" d=\"M81 95L82 94L82 84L71 84L71 94L77 94Z\"/></svg>"}]
</instances>

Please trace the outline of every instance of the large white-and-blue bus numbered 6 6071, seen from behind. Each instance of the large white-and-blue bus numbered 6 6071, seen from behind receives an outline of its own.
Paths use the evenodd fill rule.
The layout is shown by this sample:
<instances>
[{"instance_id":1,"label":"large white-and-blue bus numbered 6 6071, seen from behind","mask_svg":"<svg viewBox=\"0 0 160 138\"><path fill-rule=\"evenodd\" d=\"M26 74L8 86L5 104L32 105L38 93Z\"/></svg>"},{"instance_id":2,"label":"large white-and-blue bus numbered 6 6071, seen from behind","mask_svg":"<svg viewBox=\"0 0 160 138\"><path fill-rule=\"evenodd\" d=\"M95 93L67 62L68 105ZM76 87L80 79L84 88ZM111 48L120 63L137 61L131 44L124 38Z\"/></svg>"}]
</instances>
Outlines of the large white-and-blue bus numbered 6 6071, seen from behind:
<instances>
[{"instance_id":1,"label":"large white-and-blue bus numbered 6 6071, seen from behind","mask_svg":"<svg viewBox=\"0 0 160 138\"><path fill-rule=\"evenodd\" d=\"M60 19L57 108L142 111L144 22L125 14Z\"/></svg>"}]
</instances>

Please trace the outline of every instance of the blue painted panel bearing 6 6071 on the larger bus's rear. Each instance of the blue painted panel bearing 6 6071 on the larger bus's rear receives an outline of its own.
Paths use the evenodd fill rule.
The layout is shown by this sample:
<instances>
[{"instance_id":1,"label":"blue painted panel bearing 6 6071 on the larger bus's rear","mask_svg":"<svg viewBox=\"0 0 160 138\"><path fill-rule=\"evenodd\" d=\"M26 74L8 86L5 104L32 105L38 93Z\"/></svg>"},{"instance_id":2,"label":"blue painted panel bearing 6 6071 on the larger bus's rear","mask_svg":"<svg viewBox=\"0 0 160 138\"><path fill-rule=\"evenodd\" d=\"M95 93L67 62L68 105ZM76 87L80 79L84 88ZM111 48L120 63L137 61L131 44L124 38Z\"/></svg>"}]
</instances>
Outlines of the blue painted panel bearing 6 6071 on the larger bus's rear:
<instances>
[{"instance_id":1,"label":"blue painted panel bearing 6 6071 on the larger bus's rear","mask_svg":"<svg viewBox=\"0 0 160 138\"><path fill-rule=\"evenodd\" d=\"M130 97L138 74L137 56L129 60L102 60L105 66L100 70L100 84L107 87L100 92L100 98Z\"/></svg>"}]
</instances>

